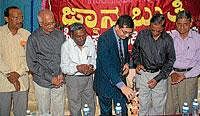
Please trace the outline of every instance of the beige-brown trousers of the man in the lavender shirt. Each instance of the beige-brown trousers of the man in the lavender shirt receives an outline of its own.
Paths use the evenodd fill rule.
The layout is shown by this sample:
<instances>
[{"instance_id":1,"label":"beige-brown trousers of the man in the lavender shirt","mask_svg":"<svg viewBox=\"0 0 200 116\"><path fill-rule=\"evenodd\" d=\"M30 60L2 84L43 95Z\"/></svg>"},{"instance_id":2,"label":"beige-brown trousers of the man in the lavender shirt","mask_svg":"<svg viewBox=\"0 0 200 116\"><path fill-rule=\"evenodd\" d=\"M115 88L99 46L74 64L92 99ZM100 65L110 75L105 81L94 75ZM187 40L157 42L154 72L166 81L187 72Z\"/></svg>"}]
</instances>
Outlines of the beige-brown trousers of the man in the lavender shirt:
<instances>
[{"instance_id":1,"label":"beige-brown trousers of the man in the lavender shirt","mask_svg":"<svg viewBox=\"0 0 200 116\"><path fill-rule=\"evenodd\" d=\"M168 80L166 114L181 113L184 102L188 103L191 111L192 101L198 95L198 78L185 79L176 85L171 85L171 78Z\"/></svg>"}]
</instances>

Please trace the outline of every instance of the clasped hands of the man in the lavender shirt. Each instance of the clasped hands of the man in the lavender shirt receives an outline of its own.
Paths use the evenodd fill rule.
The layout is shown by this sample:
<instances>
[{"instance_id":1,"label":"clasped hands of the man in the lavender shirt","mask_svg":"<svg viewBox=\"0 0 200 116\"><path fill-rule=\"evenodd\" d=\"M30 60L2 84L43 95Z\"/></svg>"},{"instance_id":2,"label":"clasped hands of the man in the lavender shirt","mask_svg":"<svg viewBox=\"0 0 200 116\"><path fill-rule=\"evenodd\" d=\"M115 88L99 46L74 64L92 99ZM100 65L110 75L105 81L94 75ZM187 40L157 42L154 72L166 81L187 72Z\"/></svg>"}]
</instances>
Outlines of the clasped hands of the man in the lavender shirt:
<instances>
[{"instance_id":1,"label":"clasped hands of the man in the lavender shirt","mask_svg":"<svg viewBox=\"0 0 200 116\"><path fill-rule=\"evenodd\" d=\"M184 76L184 74L182 73L177 73L177 72L173 72L171 75L171 84L178 84L180 83L182 80L184 80L186 77Z\"/></svg>"}]
</instances>

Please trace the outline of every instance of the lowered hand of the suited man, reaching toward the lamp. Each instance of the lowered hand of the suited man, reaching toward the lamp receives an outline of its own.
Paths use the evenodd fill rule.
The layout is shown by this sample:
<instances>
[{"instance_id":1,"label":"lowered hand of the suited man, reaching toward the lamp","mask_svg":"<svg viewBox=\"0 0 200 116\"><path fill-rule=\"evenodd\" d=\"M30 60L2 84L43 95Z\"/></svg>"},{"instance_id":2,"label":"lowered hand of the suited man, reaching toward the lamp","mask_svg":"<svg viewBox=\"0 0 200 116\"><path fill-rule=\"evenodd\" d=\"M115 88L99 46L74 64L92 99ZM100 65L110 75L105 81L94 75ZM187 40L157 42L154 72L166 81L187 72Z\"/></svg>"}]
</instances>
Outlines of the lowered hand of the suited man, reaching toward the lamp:
<instances>
[{"instance_id":1,"label":"lowered hand of the suited man, reaching toward the lamp","mask_svg":"<svg viewBox=\"0 0 200 116\"><path fill-rule=\"evenodd\" d=\"M131 88L127 87L126 85L122 86L120 89L128 99L128 102L130 102L135 97L134 91Z\"/></svg>"}]
</instances>

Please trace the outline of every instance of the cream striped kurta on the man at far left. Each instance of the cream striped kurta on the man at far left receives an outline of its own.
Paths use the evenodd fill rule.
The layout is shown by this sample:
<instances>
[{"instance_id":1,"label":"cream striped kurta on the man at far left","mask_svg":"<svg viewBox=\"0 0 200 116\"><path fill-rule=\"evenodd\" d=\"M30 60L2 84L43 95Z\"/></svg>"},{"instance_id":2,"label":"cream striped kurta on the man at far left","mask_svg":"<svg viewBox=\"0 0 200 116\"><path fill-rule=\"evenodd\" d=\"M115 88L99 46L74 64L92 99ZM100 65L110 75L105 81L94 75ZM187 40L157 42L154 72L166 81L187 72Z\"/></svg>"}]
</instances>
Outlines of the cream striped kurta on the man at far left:
<instances>
[{"instance_id":1,"label":"cream striped kurta on the man at far left","mask_svg":"<svg viewBox=\"0 0 200 116\"><path fill-rule=\"evenodd\" d=\"M15 87L11 84L6 74L16 71L21 75L20 91L29 88L28 67L26 64L25 47L30 32L20 28L13 35L8 25L0 27L0 92L15 91Z\"/></svg>"}]
</instances>

